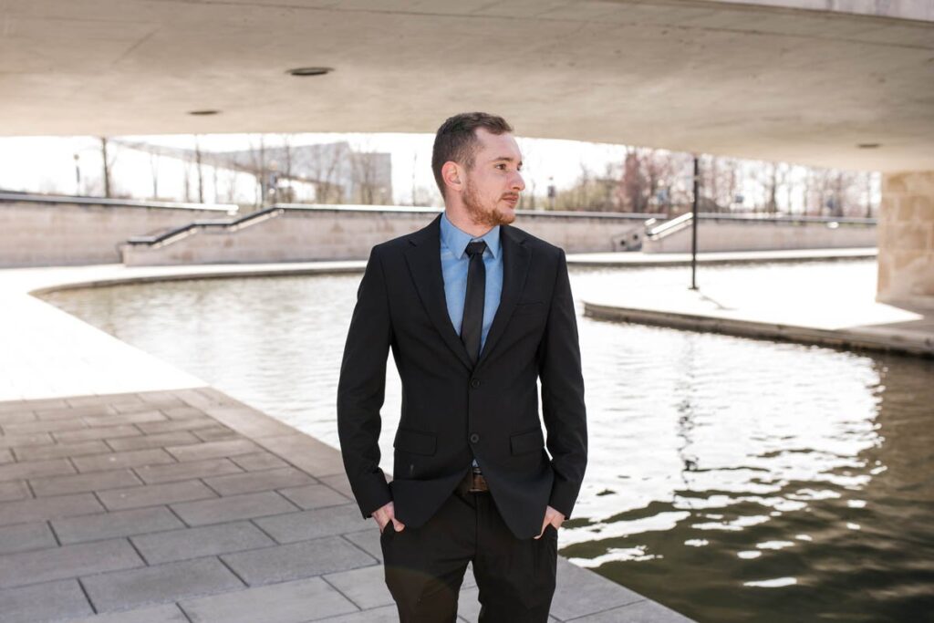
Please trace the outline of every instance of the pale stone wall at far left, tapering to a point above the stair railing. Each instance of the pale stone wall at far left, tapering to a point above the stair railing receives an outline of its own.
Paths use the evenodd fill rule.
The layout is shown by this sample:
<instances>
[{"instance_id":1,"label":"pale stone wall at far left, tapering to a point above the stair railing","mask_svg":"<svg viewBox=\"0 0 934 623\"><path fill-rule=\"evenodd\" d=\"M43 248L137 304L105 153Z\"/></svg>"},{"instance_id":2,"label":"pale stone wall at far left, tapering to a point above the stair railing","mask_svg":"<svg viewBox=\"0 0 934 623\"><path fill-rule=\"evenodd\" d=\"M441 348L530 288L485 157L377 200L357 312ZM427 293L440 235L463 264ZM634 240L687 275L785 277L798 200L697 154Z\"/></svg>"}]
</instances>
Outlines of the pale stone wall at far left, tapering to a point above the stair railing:
<instances>
[{"instance_id":1,"label":"pale stone wall at far left, tapering to a point above the stair railing","mask_svg":"<svg viewBox=\"0 0 934 623\"><path fill-rule=\"evenodd\" d=\"M235 209L0 194L0 267L117 263L119 246L130 236L226 217Z\"/></svg>"}]
</instances>

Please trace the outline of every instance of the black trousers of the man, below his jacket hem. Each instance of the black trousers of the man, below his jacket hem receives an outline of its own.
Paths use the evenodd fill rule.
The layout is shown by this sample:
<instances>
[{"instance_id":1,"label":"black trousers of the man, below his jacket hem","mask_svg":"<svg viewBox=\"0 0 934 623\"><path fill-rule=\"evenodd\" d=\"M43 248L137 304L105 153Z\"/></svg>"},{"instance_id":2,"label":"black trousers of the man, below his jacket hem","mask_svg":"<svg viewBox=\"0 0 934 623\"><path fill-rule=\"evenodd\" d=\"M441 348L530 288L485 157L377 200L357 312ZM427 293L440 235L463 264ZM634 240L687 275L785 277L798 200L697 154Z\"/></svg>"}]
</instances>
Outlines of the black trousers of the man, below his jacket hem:
<instances>
[{"instance_id":1,"label":"black trousers of the man, below his jacket hem","mask_svg":"<svg viewBox=\"0 0 934 623\"><path fill-rule=\"evenodd\" d=\"M480 623L545 623L555 593L558 530L517 539L488 491L467 482L420 528L379 537L386 585L401 623L453 623L467 563L474 563Z\"/></svg>"}]
</instances>

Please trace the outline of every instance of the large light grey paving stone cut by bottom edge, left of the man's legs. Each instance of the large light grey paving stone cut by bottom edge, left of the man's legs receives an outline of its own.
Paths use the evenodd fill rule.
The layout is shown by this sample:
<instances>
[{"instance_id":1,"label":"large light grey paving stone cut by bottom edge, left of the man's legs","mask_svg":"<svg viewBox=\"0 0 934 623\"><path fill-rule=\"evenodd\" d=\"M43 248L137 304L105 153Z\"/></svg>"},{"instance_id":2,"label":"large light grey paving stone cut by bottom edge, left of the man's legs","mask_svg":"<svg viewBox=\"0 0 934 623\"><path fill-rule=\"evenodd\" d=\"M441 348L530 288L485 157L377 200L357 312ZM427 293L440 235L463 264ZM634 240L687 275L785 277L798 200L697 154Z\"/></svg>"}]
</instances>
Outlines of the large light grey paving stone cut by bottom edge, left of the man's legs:
<instances>
[{"instance_id":1,"label":"large light grey paving stone cut by bottom edge, left of the man's legs","mask_svg":"<svg viewBox=\"0 0 934 623\"><path fill-rule=\"evenodd\" d=\"M358 611L318 577L187 600L180 605L192 623L304 623Z\"/></svg>"}]
</instances>

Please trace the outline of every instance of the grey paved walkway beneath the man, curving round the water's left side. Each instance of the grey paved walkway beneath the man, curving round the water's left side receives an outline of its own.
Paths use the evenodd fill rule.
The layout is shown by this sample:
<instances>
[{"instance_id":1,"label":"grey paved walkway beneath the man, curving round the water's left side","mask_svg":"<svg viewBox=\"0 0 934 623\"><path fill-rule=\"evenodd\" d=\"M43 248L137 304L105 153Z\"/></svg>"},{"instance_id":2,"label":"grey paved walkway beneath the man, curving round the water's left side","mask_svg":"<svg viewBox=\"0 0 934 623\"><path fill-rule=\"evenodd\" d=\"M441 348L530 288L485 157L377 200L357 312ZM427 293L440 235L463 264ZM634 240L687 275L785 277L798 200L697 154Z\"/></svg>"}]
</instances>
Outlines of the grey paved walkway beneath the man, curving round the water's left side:
<instances>
[{"instance_id":1,"label":"grey paved walkway beneath the man, curving round the water's left side","mask_svg":"<svg viewBox=\"0 0 934 623\"><path fill-rule=\"evenodd\" d=\"M362 265L0 271L0 619L398 620L337 450L28 295ZM561 558L551 620L689 622Z\"/></svg>"}]
</instances>

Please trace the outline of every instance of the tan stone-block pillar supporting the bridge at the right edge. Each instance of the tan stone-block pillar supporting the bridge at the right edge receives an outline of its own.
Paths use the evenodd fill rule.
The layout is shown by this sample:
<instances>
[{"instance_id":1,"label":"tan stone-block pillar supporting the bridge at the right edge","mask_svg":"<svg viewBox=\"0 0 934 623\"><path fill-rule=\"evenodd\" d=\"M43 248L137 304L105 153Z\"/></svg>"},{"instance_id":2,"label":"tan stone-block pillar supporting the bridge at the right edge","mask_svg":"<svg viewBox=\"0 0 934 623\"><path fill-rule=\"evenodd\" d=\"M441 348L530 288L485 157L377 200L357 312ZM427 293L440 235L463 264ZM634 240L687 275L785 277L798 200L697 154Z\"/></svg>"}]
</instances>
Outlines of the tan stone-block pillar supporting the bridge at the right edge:
<instances>
[{"instance_id":1,"label":"tan stone-block pillar supporting the bridge at the right edge","mask_svg":"<svg viewBox=\"0 0 934 623\"><path fill-rule=\"evenodd\" d=\"M876 301L934 309L934 171L883 176Z\"/></svg>"}]
</instances>

